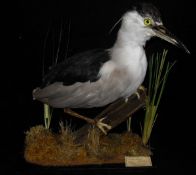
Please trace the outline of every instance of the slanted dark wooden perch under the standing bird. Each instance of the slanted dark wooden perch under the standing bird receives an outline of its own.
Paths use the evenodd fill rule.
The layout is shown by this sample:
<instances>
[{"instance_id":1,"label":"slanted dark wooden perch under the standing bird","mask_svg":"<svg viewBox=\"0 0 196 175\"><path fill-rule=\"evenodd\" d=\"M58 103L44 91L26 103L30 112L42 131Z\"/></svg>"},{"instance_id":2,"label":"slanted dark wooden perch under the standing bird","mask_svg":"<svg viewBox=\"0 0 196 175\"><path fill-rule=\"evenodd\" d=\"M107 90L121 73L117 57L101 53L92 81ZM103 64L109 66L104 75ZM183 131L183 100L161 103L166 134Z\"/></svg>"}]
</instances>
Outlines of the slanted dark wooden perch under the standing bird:
<instances>
[{"instance_id":1,"label":"slanted dark wooden perch under the standing bird","mask_svg":"<svg viewBox=\"0 0 196 175\"><path fill-rule=\"evenodd\" d=\"M146 92L144 90L138 90L140 98L136 94L130 96L128 101L125 99L119 99L112 103L103 112L97 115L94 119L99 120L105 118L102 122L111 126L111 129L115 128L122 122L126 121L134 112L136 112L141 107L145 106ZM86 124L76 131L76 142L82 143L85 137L88 135L90 124ZM107 130L109 131L109 130ZM103 134L102 132L100 134Z\"/></svg>"}]
</instances>

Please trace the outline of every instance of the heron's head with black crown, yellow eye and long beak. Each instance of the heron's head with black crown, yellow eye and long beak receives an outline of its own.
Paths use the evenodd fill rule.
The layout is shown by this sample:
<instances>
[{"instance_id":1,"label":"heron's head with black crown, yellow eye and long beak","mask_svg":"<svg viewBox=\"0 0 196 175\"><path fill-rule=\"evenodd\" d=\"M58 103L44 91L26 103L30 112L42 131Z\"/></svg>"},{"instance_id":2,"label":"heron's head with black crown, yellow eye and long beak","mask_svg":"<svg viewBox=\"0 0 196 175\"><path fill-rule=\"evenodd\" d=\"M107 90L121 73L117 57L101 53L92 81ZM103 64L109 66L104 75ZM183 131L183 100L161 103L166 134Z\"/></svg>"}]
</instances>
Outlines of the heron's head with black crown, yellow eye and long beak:
<instances>
[{"instance_id":1,"label":"heron's head with black crown, yellow eye and long beak","mask_svg":"<svg viewBox=\"0 0 196 175\"><path fill-rule=\"evenodd\" d=\"M163 25L159 10L152 4L137 5L126 12L121 19L121 32L129 33L134 42L144 45L148 39L156 36L190 53L187 47Z\"/></svg>"}]
</instances>

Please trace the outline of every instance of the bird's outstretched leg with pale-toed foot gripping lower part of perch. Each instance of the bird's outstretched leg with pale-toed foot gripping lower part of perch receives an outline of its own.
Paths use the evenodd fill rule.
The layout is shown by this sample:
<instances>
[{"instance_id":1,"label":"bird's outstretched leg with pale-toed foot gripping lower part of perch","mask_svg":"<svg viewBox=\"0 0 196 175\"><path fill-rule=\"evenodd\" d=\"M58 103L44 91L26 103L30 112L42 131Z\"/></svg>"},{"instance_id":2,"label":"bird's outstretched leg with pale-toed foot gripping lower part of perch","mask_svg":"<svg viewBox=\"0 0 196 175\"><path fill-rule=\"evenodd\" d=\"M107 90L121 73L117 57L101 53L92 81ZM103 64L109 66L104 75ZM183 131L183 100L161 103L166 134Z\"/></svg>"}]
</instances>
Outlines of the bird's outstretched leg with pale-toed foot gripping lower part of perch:
<instances>
[{"instance_id":1,"label":"bird's outstretched leg with pale-toed foot gripping lower part of perch","mask_svg":"<svg viewBox=\"0 0 196 175\"><path fill-rule=\"evenodd\" d=\"M71 116L83 119L90 124L96 125L104 134L107 134L105 128L108 130L111 129L110 125L102 122L105 118L101 118L99 120L93 120L91 118L85 117L83 115L78 114L77 112L72 111L70 108L65 108L64 112L71 115Z\"/></svg>"}]
</instances>

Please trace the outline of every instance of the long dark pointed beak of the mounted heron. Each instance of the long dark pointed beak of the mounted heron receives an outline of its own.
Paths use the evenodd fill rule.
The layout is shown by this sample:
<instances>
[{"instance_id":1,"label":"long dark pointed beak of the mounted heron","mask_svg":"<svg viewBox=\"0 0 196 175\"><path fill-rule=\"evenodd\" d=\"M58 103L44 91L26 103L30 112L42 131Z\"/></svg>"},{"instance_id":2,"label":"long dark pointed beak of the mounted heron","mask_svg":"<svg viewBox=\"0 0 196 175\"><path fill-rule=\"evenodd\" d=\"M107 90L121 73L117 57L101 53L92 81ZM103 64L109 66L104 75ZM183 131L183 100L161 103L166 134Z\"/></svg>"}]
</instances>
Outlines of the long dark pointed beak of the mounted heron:
<instances>
[{"instance_id":1,"label":"long dark pointed beak of the mounted heron","mask_svg":"<svg viewBox=\"0 0 196 175\"><path fill-rule=\"evenodd\" d=\"M153 31L155 32L155 36L178 46L179 48L184 49L187 53L190 54L187 47L177 38L175 37L169 30L167 30L163 25L154 26Z\"/></svg>"}]
</instances>

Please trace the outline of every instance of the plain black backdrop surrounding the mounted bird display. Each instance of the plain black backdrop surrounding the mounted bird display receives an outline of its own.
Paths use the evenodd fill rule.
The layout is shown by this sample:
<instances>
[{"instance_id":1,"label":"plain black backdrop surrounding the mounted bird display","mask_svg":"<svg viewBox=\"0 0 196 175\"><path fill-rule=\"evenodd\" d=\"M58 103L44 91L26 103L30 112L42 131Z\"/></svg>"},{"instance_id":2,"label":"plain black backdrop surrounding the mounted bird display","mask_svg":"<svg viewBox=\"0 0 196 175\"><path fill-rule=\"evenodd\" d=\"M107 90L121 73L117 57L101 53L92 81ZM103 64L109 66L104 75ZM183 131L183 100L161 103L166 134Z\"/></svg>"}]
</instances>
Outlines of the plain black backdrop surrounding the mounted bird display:
<instances>
[{"instance_id":1,"label":"plain black backdrop surrounding the mounted bird display","mask_svg":"<svg viewBox=\"0 0 196 175\"><path fill-rule=\"evenodd\" d=\"M185 0L148 2L160 9L165 26L191 52L188 55L160 39L152 39L146 45L148 56L166 48L169 49L167 59L177 60L169 75L151 137L154 164L158 172L185 173L196 163L194 5ZM111 34L109 30L131 3L131 0L20 0L6 6L7 42L4 45L8 49L1 58L0 125L1 151L5 155L2 166L7 171L25 169L20 163L24 132L43 123L42 104L33 101L31 93L41 82L43 53L47 59L45 64L52 64L51 55L58 46L60 26L63 33L59 59L92 48L108 48L115 41L118 27ZM44 49L48 31L48 44Z\"/></svg>"}]
</instances>

